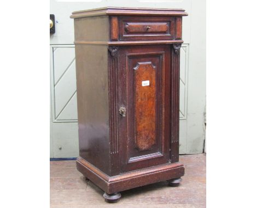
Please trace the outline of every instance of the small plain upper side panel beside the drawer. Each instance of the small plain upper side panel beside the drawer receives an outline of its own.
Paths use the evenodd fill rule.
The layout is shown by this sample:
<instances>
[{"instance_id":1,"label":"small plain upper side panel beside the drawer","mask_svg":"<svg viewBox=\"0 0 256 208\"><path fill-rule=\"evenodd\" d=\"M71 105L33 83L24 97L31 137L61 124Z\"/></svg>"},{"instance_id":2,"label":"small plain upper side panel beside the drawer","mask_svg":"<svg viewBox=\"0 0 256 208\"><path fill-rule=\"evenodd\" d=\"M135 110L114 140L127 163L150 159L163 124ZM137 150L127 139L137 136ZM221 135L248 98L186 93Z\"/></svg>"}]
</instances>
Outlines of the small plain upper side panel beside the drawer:
<instances>
[{"instance_id":1,"label":"small plain upper side panel beside the drawer","mask_svg":"<svg viewBox=\"0 0 256 208\"><path fill-rule=\"evenodd\" d=\"M75 41L108 41L109 17L97 16L74 20Z\"/></svg>"}]
</instances>

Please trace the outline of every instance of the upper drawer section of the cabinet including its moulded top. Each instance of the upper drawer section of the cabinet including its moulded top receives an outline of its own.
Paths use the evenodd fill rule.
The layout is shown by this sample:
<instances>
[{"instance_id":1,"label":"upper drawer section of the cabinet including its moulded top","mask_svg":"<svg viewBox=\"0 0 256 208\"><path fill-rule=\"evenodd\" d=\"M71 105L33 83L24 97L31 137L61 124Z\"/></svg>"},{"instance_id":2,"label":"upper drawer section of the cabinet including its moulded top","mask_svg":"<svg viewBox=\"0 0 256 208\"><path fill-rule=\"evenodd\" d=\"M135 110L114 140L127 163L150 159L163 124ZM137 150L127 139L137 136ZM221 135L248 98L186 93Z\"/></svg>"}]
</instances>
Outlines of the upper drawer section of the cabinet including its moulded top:
<instances>
[{"instance_id":1,"label":"upper drawer section of the cabinet including its moulded top","mask_svg":"<svg viewBox=\"0 0 256 208\"><path fill-rule=\"evenodd\" d=\"M134 15L129 15L129 12ZM175 9L104 8L78 11L72 15L74 42L106 45L109 40L181 40L181 16L186 15L184 10Z\"/></svg>"}]
</instances>

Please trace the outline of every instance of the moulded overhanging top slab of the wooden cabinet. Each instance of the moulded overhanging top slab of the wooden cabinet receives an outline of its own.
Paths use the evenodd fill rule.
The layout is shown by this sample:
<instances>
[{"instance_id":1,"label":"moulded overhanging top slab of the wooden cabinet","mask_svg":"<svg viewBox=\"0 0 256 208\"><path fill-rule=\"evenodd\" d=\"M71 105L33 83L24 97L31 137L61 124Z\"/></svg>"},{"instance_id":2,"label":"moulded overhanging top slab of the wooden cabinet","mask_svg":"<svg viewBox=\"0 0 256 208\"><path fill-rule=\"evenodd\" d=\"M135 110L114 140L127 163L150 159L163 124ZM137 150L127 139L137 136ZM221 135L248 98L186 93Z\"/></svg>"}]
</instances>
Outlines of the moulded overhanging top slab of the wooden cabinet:
<instances>
[{"instance_id":1,"label":"moulded overhanging top slab of the wooden cabinet","mask_svg":"<svg viewBox=\"0 0 256 208\"><path fill-rule=\"evenodd\" d=\"M97 9L74 11L72 19L87 16L102 15L129 15L129 16L187 16L184 9L159 9L159 8L129 8L129 7L104 7Z\"/></svg>"}]
</instances>

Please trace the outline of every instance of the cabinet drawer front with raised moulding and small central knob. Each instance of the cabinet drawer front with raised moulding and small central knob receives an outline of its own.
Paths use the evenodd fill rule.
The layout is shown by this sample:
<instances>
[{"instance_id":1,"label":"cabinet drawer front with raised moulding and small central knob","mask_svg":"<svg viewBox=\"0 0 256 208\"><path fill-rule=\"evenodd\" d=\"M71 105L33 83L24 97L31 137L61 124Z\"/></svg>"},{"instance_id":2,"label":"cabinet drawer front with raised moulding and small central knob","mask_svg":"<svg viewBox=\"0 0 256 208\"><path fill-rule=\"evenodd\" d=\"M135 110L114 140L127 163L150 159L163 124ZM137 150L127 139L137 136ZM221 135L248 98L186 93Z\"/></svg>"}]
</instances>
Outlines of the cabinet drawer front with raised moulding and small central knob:
<instances>
[{"instance_id":1,"label":"cabinet drawer front with raised moulding and small central knob","mask_svg":"<svg viewBox=\"0 0 256 208\"><path fill-rule=\"evenodd\" d=\"M120 40L169 40L175 38L175 17L120 17Z\"/></svg>"}]
</instances>

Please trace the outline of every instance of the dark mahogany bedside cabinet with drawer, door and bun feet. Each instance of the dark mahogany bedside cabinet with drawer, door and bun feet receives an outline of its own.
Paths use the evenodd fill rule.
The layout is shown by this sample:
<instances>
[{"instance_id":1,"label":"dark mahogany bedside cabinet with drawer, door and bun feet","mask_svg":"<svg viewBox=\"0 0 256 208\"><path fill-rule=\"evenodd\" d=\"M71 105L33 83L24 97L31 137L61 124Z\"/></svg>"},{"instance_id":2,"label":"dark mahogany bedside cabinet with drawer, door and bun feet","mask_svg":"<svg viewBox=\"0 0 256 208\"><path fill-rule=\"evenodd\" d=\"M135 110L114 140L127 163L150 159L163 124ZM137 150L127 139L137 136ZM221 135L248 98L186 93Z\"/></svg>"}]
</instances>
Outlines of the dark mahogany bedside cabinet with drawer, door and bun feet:
<instances>
[{"instance_id":1,"label":"dark mahogany bedside cabinet with drawer, door and bun feet","mask_svg":"<svg viewBox=\"0 0 256 208\"><path fill-rule=\"evenodd\" d=\"M75 11L77 169L115 202L119 192L178 186L183 9Z\"/></svg>"}]
</instances>

